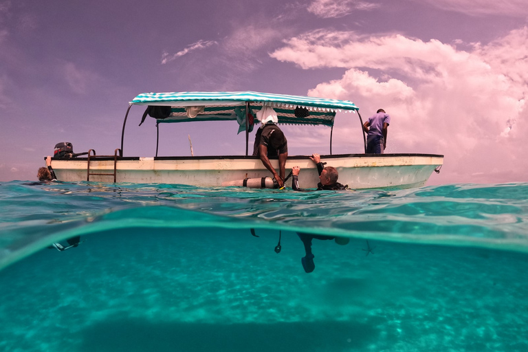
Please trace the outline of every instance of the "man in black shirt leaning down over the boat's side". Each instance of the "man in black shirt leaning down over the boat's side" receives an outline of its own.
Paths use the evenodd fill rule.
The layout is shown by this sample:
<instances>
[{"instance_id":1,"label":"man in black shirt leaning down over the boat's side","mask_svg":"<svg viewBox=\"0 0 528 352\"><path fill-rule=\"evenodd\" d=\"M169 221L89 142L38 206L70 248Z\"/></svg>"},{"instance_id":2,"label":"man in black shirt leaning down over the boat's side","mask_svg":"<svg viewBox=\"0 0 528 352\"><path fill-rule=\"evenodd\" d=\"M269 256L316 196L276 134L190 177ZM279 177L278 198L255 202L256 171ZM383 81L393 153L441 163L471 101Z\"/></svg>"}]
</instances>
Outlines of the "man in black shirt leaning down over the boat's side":
<instances>
[{"instance_id":1,"label":"man in black shirt leaning down over the boat's side","mask_svg":"<svg viewBox=\"0 0 528 352\"><path fill-rule=\"evenodd\" d=\"M253 146L253 156L261 158L262 164L270 170L279 188L284 187L285 166L288 159L288 141L278 128L277 114L271 107L263 107L256 113L256 118L261 121L262 126L256 131ZM269 157L278 156L279 173L272 166Z\"/></svg>"}]
</instances>

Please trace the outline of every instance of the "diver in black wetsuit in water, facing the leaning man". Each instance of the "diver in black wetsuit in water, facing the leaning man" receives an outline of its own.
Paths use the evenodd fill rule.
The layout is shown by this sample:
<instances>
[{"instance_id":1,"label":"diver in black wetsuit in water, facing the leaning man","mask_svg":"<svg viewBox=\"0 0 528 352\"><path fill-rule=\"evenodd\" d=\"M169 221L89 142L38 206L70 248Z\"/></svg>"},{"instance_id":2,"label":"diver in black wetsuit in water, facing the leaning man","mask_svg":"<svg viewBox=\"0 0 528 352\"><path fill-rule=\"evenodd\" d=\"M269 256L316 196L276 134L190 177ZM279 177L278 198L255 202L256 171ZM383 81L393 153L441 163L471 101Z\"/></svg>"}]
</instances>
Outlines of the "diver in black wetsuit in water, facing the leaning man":
<instances>
[{"instance_id":1,"label":"diver in black wetsuit in water, facing the leaning man","mask_svg":"<svg viewBox=\"0 0 528 352\"><path fill-rule=\"evenodd\" d=\"M346 190L347 188L349 188L348 185L343 186L338 182L338 170L336 170L336 168L332 166L327 166L325 168L325 165L321 162L321 157L319 154L312 154L310 159L312 162L316 163L317 170L319 173L320 182L317 185L317 190ZM292 188L294 190L308 191L299 188L299 172L299 166L294 166L292 168ZM322 234L306 234L303 232L297 232L297 234L300 238L300 241L303 241L303 245L305 245L306 256L300 259L300 262L303 264L305 272L313 272L316 268L316 265L314 263L314 254L311 252L312 239L333 239L336 241L336 243L340 245L346 245L347 243L349 243L349 238L347 237L325 236Z\"/></svg>"}]
</instances>

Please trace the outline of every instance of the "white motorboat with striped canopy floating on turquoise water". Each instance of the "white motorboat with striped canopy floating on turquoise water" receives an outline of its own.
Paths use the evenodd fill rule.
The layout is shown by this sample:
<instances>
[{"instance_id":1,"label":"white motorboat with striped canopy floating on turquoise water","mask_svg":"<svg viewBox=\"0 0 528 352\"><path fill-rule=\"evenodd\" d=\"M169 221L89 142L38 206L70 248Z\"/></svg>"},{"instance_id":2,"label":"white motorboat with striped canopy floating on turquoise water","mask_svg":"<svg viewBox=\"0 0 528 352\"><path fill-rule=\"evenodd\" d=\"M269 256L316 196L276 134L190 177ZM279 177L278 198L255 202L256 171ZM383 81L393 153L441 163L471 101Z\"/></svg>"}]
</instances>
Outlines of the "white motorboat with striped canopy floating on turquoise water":
<instances>
[{"instance_id":1,"label":"white motorboat with striped canopy floating on turquoise water","mask_svg":"<svg viewBox=\"0 0 528 352\"><path fill-rule=\"evenodd\" d=\"M125 156L124 132L131 107L141 109L142 121L147 116L155 119L157 143L155 156ZM322 162L334 166L339 172L339 181L351 189L368 188L415 188L424 186L433 172L439 172L443 155L434 154L332 154L333 124L336 113L358 115L363 124L359 108L349 100L289 96L283 94L237 92L173 92L144 93L136 96L124 116L121 145L113 155L96 155L94 149L88 153L54 155L52 165L61 181L129 182L135 184L186 184L192 186L242 186L243 180L271 177L261 159L248 153L250 131L258 123L254 116L263 107L276 111L278 124L323 125L331 129L330 154L321 155ZM165 123L234 121L239 122L239 131L245 132L245 154L241 155L175 155L157 156L159 126ZM362 129L363 131L363 129ZM236 133L236 131L234 131ZM366 151L366 135L363 132ZM192 144L191 144L192 151ZM313 151L309 151L311 155ZM84 155L82 155L84 154ZM151 154L152 155L152 154ZM278 170L278 159L270 158ZM302 173L299 186L314 188L318 184L316 165L308 155L289 155L286 170L300 166ZM289 186L286 184L286 186Z\"/></svg>"}]
</instances>

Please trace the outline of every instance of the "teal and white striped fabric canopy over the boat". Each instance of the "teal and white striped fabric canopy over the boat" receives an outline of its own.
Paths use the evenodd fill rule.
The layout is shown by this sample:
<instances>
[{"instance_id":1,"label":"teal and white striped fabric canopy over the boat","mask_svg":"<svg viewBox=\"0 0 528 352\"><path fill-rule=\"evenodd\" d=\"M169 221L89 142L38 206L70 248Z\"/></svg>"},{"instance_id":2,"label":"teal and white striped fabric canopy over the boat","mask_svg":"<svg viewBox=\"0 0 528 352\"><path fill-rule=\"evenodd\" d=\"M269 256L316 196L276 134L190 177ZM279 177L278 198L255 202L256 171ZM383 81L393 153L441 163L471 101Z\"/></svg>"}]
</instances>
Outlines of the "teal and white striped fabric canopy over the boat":
<instances>
[{"instance_id":1,"label":"teal and white striped fabric canopy over the boat","mask_svg":"<svg viewBox=\"0 0 528 352\"><path fill-rule=\"evenodd\" d=\"M237 114L245 113L246 102L253 115L263 106L276 111L279 124L323 124L333 126L336 111L357 111L349 100L287 96L284 94L258 93L255 91L186 91L173 93L144 93L130 103L135 105L170 106L167 118L157 122L190 122L237 120ZM199 111L189 113L190 107ZM203 107L203 109L202 109Z\"/></svg>"}]
</instances>

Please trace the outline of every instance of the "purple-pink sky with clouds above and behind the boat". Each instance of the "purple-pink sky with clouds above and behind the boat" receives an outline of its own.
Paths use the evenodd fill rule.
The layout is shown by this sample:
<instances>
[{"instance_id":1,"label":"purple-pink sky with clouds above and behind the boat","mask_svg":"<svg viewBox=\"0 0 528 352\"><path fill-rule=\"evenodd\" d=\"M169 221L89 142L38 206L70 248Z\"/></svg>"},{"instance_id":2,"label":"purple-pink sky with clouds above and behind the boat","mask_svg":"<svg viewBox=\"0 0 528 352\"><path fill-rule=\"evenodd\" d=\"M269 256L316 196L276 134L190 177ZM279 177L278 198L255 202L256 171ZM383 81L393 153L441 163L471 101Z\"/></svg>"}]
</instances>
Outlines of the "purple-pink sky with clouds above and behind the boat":
<instances>
[{"instance_id":1,"label":"purple-pink sky with clouds above and behind the boat","mask_svg":"<svg viewBox=\"0 0 528 352\"><path fill-rule=\"evenodd\" d=\"M261 91L391 115L386 153L445 155L428 184L528 181L525 0L0 0L0 181L34 180L58 142L113 155L145 92ZM155 120L124 156L155 155ZM236 122L163 124L159 155L243 155ZM285 126L290 155L330 129ZM250 144L254 135L250 135ZM332 151L362 153L357 114Z\"/></svg>"}]
</instances>

